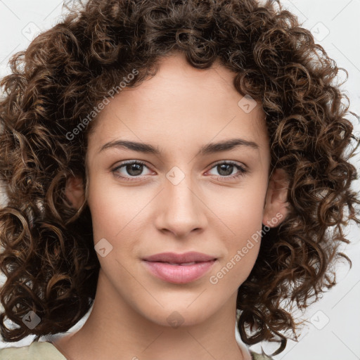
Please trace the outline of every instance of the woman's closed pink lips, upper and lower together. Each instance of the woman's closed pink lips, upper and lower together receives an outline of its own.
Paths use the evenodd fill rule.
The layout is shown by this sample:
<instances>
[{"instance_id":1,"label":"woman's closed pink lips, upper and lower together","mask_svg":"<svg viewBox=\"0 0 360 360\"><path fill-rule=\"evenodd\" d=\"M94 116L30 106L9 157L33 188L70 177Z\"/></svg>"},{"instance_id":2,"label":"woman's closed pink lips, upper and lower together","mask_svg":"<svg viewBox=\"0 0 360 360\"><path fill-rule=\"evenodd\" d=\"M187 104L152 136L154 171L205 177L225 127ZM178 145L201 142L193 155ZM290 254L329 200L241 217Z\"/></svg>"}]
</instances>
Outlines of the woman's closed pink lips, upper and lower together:
<instances>
[{"instance_id":1,"label":"woman's closed pink lips, upper and lower together","mask_svg":"<svg viewBox=\"0 0 360 360\"><path fill-rule=\"evenodd\" d=\"M169 283L190 283L201 278L217 259L200 252L162 252L143 259L154 276Z\"/></svg>"}]
</instances>

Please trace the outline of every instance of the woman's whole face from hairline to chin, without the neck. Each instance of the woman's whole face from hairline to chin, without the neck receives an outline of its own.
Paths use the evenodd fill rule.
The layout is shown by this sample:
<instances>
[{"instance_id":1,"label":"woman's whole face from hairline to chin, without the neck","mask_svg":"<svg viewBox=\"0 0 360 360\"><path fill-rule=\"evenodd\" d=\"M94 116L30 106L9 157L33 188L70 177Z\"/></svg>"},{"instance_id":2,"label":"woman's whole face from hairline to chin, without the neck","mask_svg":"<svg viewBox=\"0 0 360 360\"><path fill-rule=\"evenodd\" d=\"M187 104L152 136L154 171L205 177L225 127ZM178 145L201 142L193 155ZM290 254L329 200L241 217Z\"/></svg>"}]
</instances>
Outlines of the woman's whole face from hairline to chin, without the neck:
<instances>
[{"instance_id":1,"label":"woman's whole face from hairline to chin, without the neck","mask_svg":"<svg viewBox=\"0 0 360 360\"><path fill-rule=\"evenodd\" d=\"M238 94L234 76L163 58L155 77L122 89L98 115L86 154L88 204L109 306L165 326L235 310L262 223L283 215L264 210L264 112ZM215 145L226 141L233 146ZM176 257L187 252L203 257Z\"/></svg>"}]
</instances>

